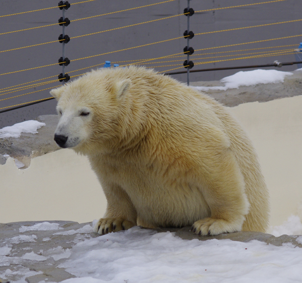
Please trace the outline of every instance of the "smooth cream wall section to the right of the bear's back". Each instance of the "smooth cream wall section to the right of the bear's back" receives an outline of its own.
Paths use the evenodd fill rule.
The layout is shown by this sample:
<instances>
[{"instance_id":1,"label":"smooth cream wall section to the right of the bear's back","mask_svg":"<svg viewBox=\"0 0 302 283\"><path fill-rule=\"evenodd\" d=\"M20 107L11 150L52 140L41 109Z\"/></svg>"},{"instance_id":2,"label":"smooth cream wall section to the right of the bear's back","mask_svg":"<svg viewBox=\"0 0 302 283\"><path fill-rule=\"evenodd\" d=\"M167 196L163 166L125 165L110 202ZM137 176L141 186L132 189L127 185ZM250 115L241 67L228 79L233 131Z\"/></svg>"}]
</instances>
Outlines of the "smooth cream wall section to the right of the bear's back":
<instances>
[{"instance_id":1,"label":"smooth cream wall section to the right of the bear's back","mask_svg":"<svg viewBox=\"0 0 302 283\"><path fill-rule=\"evenodd\" d=\"M230 108L259 156L270 192L270 225L302 220L302 96Z\"/></svg>"}]
</instances>

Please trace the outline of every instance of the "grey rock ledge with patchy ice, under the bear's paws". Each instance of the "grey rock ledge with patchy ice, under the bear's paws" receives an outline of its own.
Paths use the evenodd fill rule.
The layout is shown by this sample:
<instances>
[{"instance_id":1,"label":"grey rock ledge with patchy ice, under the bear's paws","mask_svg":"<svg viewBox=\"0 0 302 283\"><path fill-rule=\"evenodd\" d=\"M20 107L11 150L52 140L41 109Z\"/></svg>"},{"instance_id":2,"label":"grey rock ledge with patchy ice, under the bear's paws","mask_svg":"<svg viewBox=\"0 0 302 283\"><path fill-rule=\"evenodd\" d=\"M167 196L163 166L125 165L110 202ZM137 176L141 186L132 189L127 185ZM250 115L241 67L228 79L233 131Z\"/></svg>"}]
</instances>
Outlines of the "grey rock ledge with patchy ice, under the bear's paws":
<instances>
[{"instance_id":1,"label":"grey rock ledge with patchy ice, under the bear's paws","mask_svg":"<svg viewBox=\"0 0 302 283\"><path fill-rule=\"evenodd\" d=\"M78 260L79 255L80 257L87 257L89 253L94 252L94 249L100 249L102 242L95 241L97 240L95 238L104 238L103 244L108 244L104 246L104 251L109 245L117 245L116 249L122 249L123 245L118 245L124 242L127 243L130 239L129 237L132 237L132 240L135 238L134 243L139 242L140 238L143 237L145 239L149 237L149 239L154 241L157 238L165 237L169 232L172 233L173 237L179 237L184 240L230 239L244 243L258 240L274 246L290 245L302 248L301 236L283 235L276 238L264 233L238 232L212 237L200 237L190 232L189 227L154 230L132 229L134 230L130 231L130 233L129 231L121 231L111 233L108 236L99 236L92 232L91 222L81 224L71 221L2 223L0 224L0 277L10 281L28 283L38 283L43 280L45 282L60 282L68 278L74 278L76 276L67 272L66 269L68 268L65 267L70 265L70 260L71 262L72 260ZM161 236L156 236L160 235L159 233L162 233ZM106 242L108 241L106 237L109 238L109 242ZM173 237L169 240L170 242L173 242ZM129 244L129 246L131 245ZM97 251L97 253L99 254L100 251Z\"/></svg>"}]
</instances>

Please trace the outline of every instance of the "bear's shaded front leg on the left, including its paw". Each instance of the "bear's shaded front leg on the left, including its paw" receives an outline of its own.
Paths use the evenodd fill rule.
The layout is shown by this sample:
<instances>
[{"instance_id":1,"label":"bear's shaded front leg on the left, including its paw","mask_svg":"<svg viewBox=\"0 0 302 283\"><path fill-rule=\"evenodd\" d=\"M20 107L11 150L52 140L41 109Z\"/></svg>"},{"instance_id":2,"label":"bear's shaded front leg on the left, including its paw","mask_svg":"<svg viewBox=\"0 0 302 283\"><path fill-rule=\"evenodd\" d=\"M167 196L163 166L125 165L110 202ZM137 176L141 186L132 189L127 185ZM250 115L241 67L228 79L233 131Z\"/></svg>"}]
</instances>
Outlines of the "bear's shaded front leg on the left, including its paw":
<instances>
[{"instance_id":1,"label":"bear's shaded front leg on the left, including its paw","mask_svg":"<svg viewBox=\"0 0 302 283\"><path fill-rule=\"evenodd\" d=\"M117 185L105 186L107 209L93 231L100 235L127 230L136 225L137 213L126 192Z\"/></svg>"}]
</instances>

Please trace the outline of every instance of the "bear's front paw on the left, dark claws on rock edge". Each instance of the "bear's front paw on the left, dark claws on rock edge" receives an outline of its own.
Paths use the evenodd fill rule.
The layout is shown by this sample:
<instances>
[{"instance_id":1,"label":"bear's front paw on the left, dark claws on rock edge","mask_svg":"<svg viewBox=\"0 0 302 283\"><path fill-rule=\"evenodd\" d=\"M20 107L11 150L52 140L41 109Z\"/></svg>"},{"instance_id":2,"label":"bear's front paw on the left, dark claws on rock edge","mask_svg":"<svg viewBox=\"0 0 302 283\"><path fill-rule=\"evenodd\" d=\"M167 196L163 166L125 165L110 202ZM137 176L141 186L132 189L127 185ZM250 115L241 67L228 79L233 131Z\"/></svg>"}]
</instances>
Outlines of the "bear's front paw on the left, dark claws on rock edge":
<instances>
[{"instance_id":1,"label":"bear's front paw on the left, dark claws on rock edge","mask_svg":"<svg viewBox=\"0 0 302 283\"><path fill-rule=\"evenodd\" d=\"M135 224L131 221L122 218L101 218L93 228L93 232L100 235L105 235L111 232L127 230Z\"/></svg>"}]
</instances>

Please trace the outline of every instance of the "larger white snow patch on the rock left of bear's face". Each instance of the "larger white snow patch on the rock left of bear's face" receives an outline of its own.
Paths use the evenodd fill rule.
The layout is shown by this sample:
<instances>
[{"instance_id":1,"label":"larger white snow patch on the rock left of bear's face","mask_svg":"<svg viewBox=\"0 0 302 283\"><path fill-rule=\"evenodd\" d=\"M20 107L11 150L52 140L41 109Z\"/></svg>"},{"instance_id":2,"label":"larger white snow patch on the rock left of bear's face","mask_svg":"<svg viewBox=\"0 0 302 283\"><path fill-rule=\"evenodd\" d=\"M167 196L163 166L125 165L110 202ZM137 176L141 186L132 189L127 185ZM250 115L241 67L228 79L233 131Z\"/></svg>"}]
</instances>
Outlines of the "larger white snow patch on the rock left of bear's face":
<instances>
[{"instance_id":1,"label":"larger white snow patch on the rock left of bear's face","mask_svg":"<svg viewBox=\"0 0 302 283\"><path fill-rule=\"evenodd\" d=\"M37 130L46 126L45 123L30 120L0 129L0 138L19 138L21 133L36 134Z\"/></svg>"}]
</instances>

